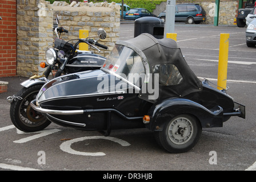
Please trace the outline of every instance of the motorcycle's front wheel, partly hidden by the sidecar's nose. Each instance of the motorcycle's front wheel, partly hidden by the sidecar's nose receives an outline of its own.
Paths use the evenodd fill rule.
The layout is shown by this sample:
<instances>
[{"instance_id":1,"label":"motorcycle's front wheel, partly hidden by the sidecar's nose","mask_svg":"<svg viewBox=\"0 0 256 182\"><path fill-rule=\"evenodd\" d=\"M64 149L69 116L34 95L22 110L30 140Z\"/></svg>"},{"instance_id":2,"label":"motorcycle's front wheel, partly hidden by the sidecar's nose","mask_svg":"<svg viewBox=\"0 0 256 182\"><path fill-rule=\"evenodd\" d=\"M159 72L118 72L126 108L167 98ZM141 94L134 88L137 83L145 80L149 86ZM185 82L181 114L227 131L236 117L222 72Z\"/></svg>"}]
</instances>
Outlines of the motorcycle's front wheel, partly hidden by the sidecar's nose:
<instances>
[{"instance_id":1,"label":"motorcycle's front wheel, partly hidden by the sidecar's nose","mask_svg":"<svg viewBox=\"0 0 256 182\"><path fill-rule=\"evenodd\" d=\"M42 85L34 85L22 88L17 96L23 98L11 102L10 118L17 129L24 132L34 132L45 129L50 121L41 113L30 107L30 102L35 99Z\"/></svg>"}]
</instances>

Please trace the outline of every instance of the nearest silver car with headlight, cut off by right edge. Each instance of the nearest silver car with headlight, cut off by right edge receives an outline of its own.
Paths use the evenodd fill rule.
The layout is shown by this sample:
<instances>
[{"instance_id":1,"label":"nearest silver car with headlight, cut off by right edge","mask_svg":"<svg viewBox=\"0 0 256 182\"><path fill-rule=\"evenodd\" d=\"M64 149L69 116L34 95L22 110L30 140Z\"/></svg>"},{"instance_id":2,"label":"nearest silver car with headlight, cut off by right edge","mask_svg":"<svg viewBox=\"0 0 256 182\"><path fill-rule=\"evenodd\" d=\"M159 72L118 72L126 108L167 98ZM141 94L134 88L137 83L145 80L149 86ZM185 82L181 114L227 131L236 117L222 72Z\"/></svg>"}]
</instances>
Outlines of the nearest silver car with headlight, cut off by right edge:
<instances>
[{"instance_id":1,"label":"nearest silver car with headlight, cut off by right edge","mask_svg":"<svg viewBox=\"0 0 256 182\"><path fill-rule=\"evenodd\" d=\"M247 26L246 32L246 45L248 47L255 47L256 45L256 19L252 20Z\"/></svg>"}]
</instances>

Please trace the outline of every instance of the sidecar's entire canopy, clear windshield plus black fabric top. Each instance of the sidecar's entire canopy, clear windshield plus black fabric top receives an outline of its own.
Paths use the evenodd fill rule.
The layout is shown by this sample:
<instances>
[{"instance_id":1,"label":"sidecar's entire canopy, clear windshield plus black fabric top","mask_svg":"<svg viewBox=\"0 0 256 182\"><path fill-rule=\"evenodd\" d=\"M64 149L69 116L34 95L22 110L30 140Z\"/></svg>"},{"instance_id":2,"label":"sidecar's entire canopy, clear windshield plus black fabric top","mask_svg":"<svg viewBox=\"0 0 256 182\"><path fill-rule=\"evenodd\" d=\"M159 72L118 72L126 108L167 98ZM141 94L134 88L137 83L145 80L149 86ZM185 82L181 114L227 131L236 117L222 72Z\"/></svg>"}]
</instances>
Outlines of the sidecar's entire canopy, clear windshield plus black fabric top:
<instances>
[{"instance_id":1,"label":"sidecar's entire canopy, clear windshield plus black fabric top","mask_svg":"<svg viewBox=\"0 0 256 182\"><path fill-rule=\"evenodd\" d=\"M139 98L152 103L202 90L202 81L186 63L177 43L151 34L118 40L101 69L127 81L139 91Z\"/></svg>"}]
</instances>

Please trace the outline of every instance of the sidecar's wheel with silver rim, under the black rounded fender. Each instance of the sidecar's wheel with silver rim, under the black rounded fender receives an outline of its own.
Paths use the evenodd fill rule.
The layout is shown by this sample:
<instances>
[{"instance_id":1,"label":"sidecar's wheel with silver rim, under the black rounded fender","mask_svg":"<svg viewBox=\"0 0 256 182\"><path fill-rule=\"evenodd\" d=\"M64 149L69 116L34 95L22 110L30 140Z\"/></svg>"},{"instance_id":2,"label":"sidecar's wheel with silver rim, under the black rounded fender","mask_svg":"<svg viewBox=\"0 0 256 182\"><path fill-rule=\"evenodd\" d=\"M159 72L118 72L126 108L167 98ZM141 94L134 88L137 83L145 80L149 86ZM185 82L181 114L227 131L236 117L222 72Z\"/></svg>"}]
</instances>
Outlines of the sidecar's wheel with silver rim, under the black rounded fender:
<instances>
[{"instance_id":1,"label":"sidecar's wheel with silver rim, under the black rounded fender","mask_svg":"<svg viewBox=\"0 0 256 182\"><path fill-rule=\"evenodd\" d=\"M166 122L162 131L155 132L155 139L171 153L187 152L197 144L202 133L199 121L191 115L178 115Z\"/></svg>"}]
</instances>

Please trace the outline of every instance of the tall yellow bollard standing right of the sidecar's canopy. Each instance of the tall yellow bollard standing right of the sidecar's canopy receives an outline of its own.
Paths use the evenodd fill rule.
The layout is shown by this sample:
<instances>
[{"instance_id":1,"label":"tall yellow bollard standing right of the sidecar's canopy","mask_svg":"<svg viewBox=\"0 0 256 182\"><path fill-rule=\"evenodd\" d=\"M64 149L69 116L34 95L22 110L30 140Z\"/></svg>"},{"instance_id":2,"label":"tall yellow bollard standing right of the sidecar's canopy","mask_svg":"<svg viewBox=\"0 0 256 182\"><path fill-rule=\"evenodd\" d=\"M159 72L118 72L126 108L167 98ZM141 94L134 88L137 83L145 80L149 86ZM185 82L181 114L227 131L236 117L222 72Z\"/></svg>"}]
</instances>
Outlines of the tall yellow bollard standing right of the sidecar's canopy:
<instances>
[{"instance_id":1,"label":"tall yellow bollard standing right of the sidecar's canopy","mask_svg":"<svg viewBox=\"0 0 256 182\"><path fill-rule=\"evenodd\" d=\"M219 41L218 89L227 89L227 58L229 56L229 34L221 34Z\"/></svg>"}]
</instances>

